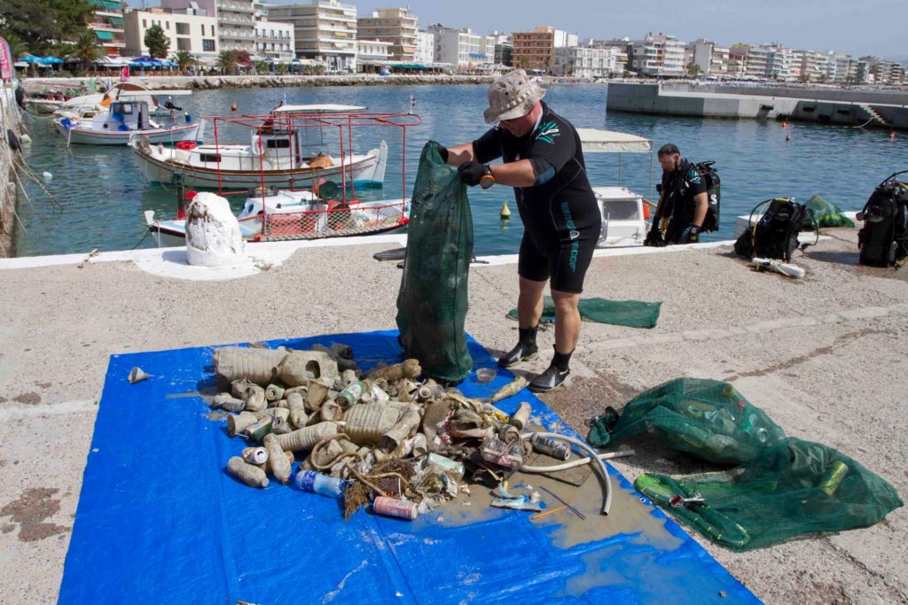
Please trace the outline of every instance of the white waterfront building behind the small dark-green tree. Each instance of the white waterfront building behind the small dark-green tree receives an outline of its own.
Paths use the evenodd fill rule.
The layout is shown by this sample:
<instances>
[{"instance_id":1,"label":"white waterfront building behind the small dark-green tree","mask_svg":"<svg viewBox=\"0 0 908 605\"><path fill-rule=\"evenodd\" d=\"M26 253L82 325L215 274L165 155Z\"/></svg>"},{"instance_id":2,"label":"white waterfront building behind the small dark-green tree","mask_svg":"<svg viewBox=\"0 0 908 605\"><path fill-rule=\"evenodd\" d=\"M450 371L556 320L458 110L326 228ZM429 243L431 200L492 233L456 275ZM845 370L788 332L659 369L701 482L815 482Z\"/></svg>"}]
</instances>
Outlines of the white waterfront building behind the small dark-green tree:
<instances>
[{"instance_id":1,"label":"white waterfront building behind the small dark-green tree","mask_svg":"<svg viewBox=\"0 0 908 605\"><path fill-rule=\"evenodd\" d=\"M126 33L124 54L147 55L145 33L154 25L158 25L171 43L168 56L178 51L188 51L202 60L215 59L220 52L217 19L213 15L176 12L179 10L153 6L126 13L123 17ZM202 9L200 11L204 12Z\"/></svg>"}]
</instances>

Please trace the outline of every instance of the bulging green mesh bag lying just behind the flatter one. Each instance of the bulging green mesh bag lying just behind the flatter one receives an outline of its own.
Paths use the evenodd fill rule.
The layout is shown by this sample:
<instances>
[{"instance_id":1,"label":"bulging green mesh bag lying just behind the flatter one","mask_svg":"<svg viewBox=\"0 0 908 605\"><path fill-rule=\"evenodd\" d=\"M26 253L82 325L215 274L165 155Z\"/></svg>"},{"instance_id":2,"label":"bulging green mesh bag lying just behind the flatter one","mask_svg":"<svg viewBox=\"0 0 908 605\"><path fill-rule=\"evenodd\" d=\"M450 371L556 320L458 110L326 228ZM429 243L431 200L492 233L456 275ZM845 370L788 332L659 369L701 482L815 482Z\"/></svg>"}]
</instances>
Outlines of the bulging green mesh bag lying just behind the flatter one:
<instances>
[{"instance_id":1,"label":"bulging green mesh bag lying just behind the flatter one","mask_svg":"<svg viewBox=\"0 0 908 605\"><path fill-rule=\"evenodd\" d=\"M721 464L751 460L785 438L785 431L734 386L699 378L677 378L637 395L611 424L598 418L587 441L602 447L648 432L667 447Z\"/></svg>"}]
</instances>

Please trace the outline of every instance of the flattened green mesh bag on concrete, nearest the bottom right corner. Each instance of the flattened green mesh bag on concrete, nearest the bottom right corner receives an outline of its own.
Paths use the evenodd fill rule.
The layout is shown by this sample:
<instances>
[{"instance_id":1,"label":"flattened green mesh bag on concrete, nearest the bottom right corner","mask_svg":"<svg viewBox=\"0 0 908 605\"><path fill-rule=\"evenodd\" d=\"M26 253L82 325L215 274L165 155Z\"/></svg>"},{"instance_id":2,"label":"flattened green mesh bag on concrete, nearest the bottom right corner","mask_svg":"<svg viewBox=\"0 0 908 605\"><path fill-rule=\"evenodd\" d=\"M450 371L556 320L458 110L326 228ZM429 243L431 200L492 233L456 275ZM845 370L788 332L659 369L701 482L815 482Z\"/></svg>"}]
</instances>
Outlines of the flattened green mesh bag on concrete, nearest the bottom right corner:
<instances>
[{"instance_id":1,"label":"flattened green mesh bag on concrete, nearest the bottom right corner","mask_svg":"<svg viewBox=\"0 0 908 605\"><path fill-rule=\"evenodd\" d=\"M892 485L861 464L794 437L725 473L684 480L644 473L634 485L679 521L733 551L869 527L903 505Z\"/></svg>"}]
</instances>

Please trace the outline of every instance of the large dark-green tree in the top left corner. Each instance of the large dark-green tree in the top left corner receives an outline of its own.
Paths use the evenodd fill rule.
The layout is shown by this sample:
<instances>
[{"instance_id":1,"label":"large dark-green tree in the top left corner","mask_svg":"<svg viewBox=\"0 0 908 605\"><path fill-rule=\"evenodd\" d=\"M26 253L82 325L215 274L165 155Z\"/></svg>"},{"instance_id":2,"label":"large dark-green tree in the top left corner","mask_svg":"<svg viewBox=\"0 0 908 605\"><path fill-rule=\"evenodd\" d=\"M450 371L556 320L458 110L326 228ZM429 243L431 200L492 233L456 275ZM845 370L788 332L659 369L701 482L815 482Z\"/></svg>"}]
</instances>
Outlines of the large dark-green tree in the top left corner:
<instances>
[{"instance_id":1,"label":"large dark-green tree in the top left corner","mask_svg":"<svg viewBox=\"0 0 908 605\"><path fill-rule=\"evenodd\" d=\"M41 53L86 31L94 6L85 0L3 0L0 13L0 35L15 35L33 53Z\"/></svg>"}]
</instances>

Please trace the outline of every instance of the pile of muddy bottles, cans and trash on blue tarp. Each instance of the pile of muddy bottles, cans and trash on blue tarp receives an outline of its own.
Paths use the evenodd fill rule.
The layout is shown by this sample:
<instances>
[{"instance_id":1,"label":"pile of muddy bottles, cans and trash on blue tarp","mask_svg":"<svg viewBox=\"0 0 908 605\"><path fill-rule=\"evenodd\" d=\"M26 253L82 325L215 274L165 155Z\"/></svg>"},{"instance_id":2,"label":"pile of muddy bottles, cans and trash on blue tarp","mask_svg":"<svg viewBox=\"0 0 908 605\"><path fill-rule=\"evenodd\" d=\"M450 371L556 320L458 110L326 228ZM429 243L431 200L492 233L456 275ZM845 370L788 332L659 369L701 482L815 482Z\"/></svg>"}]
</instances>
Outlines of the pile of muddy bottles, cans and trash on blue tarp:
<instances>
[{"instance_id":1,"label":"pile of muddy bottles, cans and trash on blue tarp","mask_svg":"<svg viewBox=\"0 0 908 605\"><path fill-rule=\"evenodd\" d=\"M342 499L345 518L371 504L374 512L415 519L469 495L468 482L500 486L518 470L533 472L525 463L534 448L568 461L573 444L590 457L567 464L595 459L607 474L582 442L521 433L528 403L513 415L495 406L527 385L523 377L489 399L472 399L431 378L419 380L416 359L364 373L343 344L309 351L223 347L213 365L230 392L214 396L211 406L226 416L228 434L250 445L227 462L228 473L253 487L267 486L271 475ZM528 496L511 497L506 488L498 494L493 505L541 510Z\"/></svg>"}]
</instances>

